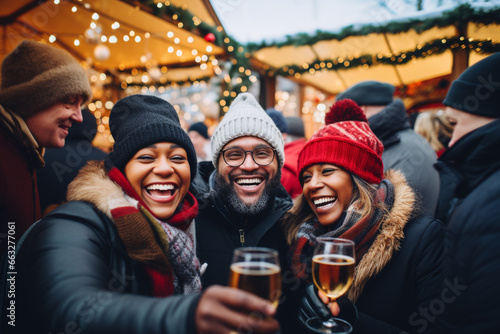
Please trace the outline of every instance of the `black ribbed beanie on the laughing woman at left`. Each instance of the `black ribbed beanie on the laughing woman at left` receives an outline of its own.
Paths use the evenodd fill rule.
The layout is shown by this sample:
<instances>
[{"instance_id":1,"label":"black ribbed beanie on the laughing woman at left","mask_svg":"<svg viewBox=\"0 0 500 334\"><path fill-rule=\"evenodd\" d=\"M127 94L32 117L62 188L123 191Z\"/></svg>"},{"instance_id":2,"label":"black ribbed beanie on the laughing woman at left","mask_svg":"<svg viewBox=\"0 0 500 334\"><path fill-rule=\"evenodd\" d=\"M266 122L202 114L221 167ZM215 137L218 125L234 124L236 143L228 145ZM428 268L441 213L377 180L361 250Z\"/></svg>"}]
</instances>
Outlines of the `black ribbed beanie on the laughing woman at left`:
<instances>
[{"instance_id":1,"label":"black ribbed beanie on the laughing woman at left","mask_svg":"<svg viewBox=\"0 0 500 334\"><path fill-rule=\"evenodd\" d=\"M191 180L196 175L196 153L188 134L181 128L177 112L167 101L149 95L131 95L111 110L109 128L115 144L109 159L123 172L135 153L158 142L170 142L186 150Z\"/></svg>"}]
</instances>

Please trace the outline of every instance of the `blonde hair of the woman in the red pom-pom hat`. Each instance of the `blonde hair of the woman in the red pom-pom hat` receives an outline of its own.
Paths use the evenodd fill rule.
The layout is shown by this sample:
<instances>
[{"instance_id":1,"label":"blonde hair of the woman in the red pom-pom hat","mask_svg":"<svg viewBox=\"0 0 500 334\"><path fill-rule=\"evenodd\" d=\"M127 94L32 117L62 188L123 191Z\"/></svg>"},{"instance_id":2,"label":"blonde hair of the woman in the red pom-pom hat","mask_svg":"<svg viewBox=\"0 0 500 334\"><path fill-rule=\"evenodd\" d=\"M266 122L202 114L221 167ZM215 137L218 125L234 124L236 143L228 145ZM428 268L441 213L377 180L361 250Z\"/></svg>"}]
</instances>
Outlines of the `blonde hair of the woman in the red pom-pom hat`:
<instances>
[{"instance_id":1,"label":"blonde hair of the woman in the red pom-pom hat","mask_svg":"<svg viewBox=\"0 0 500 334\"><path fill-rule=\"evenodd\" d=\"M382 209L387 214L388 211L385 204L381 201L375 201L378 185L369 184L359 176L349 174L353 181L350 205L356 206L358 213L361 215L360 220L371 216L376 208ZM300 225L314 217L315 214L304 195L300 194L297 196L293 201L293 207L288 211L283 220L283 228L289 245L296 239Z\"/></svg>"}]
</instances>

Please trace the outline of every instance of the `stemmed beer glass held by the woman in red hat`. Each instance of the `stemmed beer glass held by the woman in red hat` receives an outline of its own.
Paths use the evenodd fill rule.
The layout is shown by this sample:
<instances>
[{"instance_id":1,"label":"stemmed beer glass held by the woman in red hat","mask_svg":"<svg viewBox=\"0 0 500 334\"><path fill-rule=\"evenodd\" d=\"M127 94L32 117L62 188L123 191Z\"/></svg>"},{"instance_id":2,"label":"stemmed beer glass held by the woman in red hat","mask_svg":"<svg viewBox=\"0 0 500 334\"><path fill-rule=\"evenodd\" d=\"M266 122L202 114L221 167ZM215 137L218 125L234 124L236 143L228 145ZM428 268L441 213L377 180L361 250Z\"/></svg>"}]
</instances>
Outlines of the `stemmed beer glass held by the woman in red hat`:
<instances>
[{"instance_id":1,"label":"stemmed beer glass held by the woman in red hat","mask_svg":"<svg viewBox=\"0 0 500 334\"><path fill-rule=\"evenodd\" d=\"M316 287L325 293L330 302L349 290L354 278L354 242L340 238L317 238L312 259L312 274ZM306 322L316 333L351 333L352 326L344 320L333 318L323 321L311 318Z\"/></svg>"}]
</instances>

